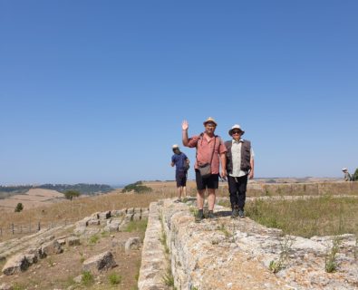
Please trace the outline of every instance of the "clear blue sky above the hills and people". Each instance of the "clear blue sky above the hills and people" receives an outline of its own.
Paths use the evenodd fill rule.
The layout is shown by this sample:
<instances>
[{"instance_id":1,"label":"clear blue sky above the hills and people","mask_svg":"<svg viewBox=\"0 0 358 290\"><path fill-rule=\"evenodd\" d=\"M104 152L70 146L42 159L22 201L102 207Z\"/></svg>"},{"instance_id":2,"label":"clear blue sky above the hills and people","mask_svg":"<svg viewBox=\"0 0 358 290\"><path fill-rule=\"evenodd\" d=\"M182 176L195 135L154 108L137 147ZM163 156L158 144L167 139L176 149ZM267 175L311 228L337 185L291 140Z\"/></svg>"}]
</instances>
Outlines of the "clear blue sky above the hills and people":
<instances>
[{"instance_id":1,"label":"clear blue sky above the hills and people","mask_svg":"<svg viewBox=\"0 0 358 290\"><path fill-rule=\"evenodd\" d=\"M2 0L0 184L174 179L181 121L191 136L208 116L224 140L246 131L256 177L342 177L358 168L357 14L357 1Z\"/></svg>"}]
</instances>

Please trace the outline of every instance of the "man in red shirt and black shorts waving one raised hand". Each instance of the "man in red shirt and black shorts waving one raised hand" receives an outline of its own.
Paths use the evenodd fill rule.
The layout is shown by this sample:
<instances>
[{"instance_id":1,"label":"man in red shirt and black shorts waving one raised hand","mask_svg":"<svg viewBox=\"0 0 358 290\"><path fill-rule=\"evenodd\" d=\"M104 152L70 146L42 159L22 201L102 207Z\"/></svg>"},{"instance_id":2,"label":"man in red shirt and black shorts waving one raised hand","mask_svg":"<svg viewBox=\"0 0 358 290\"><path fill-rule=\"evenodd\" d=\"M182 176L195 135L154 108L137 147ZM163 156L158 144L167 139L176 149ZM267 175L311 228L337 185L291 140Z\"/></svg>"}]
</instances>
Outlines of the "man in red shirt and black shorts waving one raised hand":
<instances>
[{"instance_id":1,"label":"man in red shirt and black shorts waving one raised hand","mask_svg":"<svg viewBox=\"0 0 358 290\"><path fill-rule=\"evenodd\" d=\"M183 121L182 139L183 145L189 148L197 149L197 160L195 162L195 178L197 181L197 204L198 204L198 219L204 218L204 198L205 190L208 189L208 218L215 218L214 205L215 205L215 189L218 189L219 165L221 163L221 178L225 179L227 176L226 170L226 147L220 137L214 134L217 128L217 122L211 117L204 121L205 131L200 135L188 137L189 123ZM198 170L199 166L206 163L210 164L210 174L208 177L203 178Z\"/></svg>"}]
</instances>

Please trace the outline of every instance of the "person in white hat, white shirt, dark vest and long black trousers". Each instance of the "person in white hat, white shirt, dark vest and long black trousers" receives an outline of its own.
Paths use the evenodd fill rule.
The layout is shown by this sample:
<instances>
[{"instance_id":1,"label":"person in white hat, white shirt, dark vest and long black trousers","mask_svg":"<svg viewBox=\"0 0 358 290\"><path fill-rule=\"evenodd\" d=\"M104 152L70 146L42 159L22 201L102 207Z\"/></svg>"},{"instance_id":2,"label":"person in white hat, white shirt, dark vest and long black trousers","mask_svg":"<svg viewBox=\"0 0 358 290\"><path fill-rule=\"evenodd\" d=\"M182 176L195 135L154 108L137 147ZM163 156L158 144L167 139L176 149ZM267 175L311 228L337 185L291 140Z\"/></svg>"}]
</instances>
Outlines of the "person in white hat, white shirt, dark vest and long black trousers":
<instances>
[{"instance_id":1,"label":"person in white hat, white shirt, dark vest and long black trousers","mask_svg":"<svg viewBox=\"0 0 358 290\"><path fill-rule=\"evenodd\" d=\"M225 142L227 147L227 183L232 218L245 218L247 179L254 178L254 150L251 148L249 140L241 139L244 133L245 131L236 124L228 131L232 140Z\"/></svg>"}]
</instances>

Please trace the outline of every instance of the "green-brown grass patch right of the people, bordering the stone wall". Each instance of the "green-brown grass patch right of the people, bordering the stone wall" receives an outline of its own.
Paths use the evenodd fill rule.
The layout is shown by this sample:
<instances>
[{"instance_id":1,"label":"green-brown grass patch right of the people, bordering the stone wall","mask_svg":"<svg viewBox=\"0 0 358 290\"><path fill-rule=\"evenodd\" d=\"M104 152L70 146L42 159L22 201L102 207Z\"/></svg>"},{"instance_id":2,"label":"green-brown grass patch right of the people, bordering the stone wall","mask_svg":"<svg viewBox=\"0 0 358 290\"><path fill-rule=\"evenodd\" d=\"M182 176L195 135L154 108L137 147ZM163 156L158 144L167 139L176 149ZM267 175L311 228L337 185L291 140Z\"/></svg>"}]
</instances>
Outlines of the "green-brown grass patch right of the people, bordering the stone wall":
<instances>
[{"instance_id":1,"label":"green-brown grass patch right of the people, bordering the stone wall","mask_svg":"<svg viewBox=\"0 0 358 290\"><path fill-rule=\"evenodd\" d=\"M229 201L221 204L230 208ZM358 235L358 198L256 199L247 202L246 213L261 225L300 237Z\"/></svg>"}]
</instances>

